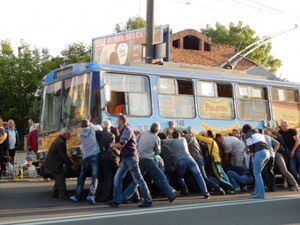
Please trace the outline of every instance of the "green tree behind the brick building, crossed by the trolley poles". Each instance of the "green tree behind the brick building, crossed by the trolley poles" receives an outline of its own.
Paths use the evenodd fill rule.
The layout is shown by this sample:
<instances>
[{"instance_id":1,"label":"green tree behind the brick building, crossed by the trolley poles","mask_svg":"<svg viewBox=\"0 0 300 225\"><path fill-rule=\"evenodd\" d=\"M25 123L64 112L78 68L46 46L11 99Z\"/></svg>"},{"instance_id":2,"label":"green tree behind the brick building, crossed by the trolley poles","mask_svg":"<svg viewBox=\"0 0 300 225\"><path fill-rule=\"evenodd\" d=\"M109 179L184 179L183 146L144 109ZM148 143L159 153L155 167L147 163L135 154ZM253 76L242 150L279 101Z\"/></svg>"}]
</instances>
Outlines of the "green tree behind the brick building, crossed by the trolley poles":
<instances>
[{"instance_id":1,"label":"green tree behind the brick building, crossed by the trolley poles","mask_svg":"<svg viewBox=\"0 0 300 225\"><path fill-rule=\"evenodd\" d=\"M236 52L243 50L250 44L258 41L260 38L255 36L255 31L248 25L244 26L240 21L237 25L230 23L229 28L220 23L216 23L215 28L206 25L205 29L200 29L214 43L229 44L235 46ZM265 67L268 71L275 74L282 65L281 60L274 58L270 52L272 44L268 42L247 55L247 58L255 63Z\"/></svg>"}]
</instances>

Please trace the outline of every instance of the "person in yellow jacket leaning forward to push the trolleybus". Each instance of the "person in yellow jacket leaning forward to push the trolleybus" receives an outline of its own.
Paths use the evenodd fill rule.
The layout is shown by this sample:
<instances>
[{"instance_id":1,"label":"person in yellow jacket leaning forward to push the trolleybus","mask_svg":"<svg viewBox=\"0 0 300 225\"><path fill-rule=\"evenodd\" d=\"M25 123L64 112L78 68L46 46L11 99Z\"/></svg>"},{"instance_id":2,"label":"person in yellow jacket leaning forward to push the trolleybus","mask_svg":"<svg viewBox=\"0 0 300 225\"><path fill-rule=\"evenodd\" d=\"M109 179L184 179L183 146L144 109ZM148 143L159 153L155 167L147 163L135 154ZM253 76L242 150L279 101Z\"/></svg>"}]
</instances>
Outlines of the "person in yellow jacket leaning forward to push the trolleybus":
<instances>
[{"instance_id":1,"label":"person in yellow jacket leaning forward to push the trolleybus","mask_svg":"<svg viewBox=\"0 0 300 225\"><path fill-rule=\"evenodd\" d=\"M201 141L207 145L208 152L204 157L208 156L207 154L211 154L212 162L211 165L205 165L206 168L211 170L212 175L220 182L220 186L228 193L234 194L234 188L230 183L228 176L226 175L225 171L221 166L221 157L219 153L219 147L217 143L214 141L215 134L211 130L207 130L205 132L205 136L201 134L196 134L192 131L192 128L189 127L189 132L191 132L198 141ZM207 163L207 162L206 162ZM210 163L209 163L210 164ZM209 174L209 171L207 171Z\"/></svg>"}]
</instances>

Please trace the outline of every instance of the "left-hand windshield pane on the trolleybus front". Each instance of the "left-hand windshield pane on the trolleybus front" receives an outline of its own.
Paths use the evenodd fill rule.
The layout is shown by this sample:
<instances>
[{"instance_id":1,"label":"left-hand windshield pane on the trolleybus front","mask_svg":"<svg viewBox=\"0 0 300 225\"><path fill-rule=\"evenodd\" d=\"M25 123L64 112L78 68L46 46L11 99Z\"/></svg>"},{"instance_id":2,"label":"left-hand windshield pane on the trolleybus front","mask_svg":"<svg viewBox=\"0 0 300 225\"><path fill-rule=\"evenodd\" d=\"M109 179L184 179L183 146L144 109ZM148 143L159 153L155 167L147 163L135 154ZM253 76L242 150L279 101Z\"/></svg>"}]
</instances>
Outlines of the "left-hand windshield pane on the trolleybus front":
<instances>
[{"instance_id":1,"label":"left-hand windshield pane on the trolleybus front","mask_svg":"<svg viewBox=\"0 0 300 225\"><path fill-rule=\"evenodd\" d=\"M61 87L62 82L58 81L45 86L43 92L43 106L41 114L41 131L59 129L61 115Z\"/></svg>"}]
</instances>

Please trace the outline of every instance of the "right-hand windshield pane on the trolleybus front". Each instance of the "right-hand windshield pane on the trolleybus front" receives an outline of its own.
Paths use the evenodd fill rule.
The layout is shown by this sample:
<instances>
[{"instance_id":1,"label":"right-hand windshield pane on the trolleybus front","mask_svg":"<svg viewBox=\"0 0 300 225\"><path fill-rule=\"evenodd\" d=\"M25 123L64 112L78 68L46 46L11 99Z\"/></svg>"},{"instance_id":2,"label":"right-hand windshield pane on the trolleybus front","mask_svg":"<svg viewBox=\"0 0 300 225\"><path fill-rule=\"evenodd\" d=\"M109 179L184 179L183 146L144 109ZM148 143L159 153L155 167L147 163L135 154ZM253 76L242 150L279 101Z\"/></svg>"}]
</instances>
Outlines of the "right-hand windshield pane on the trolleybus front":
<instances>
[{"instance_id":1,"label":"right-hand windshield pane on the trolleybus front","mask_svg":"<svg viewBox=\"0 0 300 225\"><path fill-rule=\"evenodd\" d=\"M63 119L68 126L77 125L88 113L89 103L88 74L64 80Z\"/></svg>"}]
</instances>

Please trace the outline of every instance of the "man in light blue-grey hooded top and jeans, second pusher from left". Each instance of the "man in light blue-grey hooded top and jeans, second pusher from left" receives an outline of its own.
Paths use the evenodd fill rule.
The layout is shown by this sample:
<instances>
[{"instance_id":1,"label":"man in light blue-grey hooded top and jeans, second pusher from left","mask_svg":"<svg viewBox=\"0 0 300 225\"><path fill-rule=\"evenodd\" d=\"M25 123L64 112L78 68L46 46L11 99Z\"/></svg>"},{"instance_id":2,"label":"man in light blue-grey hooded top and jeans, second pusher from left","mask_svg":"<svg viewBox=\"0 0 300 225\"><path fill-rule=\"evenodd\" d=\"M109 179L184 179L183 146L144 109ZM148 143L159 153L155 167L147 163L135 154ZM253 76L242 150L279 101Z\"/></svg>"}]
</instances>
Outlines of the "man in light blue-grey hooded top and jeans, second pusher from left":
<instances>
[{"instance_id":1,"label":"man in light blue-grey hooded top and jeans, second pusher from left","mask_svg":"<svg viewBox=\"0 0 300 225\"><path fill-rule=\"evenodd\" d=\"M80 175L77 179L77 187L75 190L75 195L70 197L73 202L78 202L81 196L81 192L86 179L87 171L89 166L91 167L91 185L87 200L91 204L96 204L95 202L95 190L96 181L98 178L98 164L99 164L99 145L96 139L96 132L93 124L90 124L89 120L84 119L81 121L82 130L78 134L78 139L81 142L80 149L82 151L82 165L80 170Z\"/></svg>"}]
</instances>

